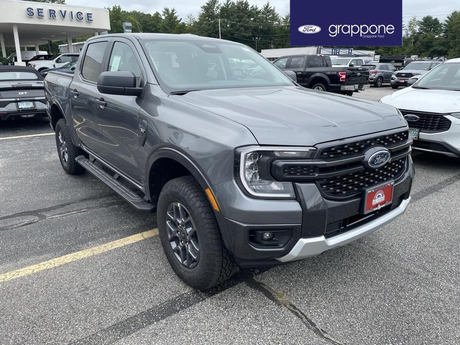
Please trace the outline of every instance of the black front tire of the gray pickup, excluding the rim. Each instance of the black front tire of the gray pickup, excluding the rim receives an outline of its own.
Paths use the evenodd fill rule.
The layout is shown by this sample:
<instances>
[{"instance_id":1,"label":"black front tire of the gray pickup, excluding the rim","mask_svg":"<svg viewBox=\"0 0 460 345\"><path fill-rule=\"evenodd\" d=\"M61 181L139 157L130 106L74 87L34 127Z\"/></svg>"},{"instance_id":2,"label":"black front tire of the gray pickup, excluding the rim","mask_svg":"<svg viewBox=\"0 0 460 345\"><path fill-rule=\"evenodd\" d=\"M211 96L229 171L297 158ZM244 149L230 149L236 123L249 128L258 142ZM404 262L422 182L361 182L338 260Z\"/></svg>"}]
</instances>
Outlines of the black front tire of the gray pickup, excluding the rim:
<instances>
[{"instance_id":1,"label":"black front tire of the gray pickup, excluding the rim","mask_svg":"<svg viewBox=\"0 0 460 345\"><path fill-rule=\"evenodd\" d=\"M173 252L170 241L168 208L180 203L185 206L196 226L199 259L192 268L186 267ZM157 221L163 250L177 275L188 285L199 290L208 289L230 278L238 269L225 248L214 212L203 189L193 176L168 181L163 187L157 208Z\"/></svg>"}]
</instances>

